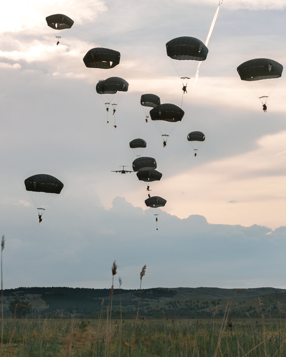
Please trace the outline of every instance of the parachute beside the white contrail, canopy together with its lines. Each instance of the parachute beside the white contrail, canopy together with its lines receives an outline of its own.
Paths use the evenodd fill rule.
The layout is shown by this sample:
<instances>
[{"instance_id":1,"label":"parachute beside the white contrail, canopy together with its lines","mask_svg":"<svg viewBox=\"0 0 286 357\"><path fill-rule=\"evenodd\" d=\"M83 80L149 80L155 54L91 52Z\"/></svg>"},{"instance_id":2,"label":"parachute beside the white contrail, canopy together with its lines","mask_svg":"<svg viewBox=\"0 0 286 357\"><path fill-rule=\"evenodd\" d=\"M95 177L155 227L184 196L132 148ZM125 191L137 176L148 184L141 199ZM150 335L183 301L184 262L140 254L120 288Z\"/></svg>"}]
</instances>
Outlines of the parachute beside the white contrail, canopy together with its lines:
<instances>
[{"instance_id":1,"label":"parachute beside the white contrail, canopy together with its lines","mask_svg":"<svg viewBox=\"0 0 286 357\"><path fill-rule=\"evenodd\" d=\"M197 69L197 61L204 61L208 49L196 37L181 36L166 43L167 55L181 78L184 86L192 78Z\"/></svg>"}]
</instances>

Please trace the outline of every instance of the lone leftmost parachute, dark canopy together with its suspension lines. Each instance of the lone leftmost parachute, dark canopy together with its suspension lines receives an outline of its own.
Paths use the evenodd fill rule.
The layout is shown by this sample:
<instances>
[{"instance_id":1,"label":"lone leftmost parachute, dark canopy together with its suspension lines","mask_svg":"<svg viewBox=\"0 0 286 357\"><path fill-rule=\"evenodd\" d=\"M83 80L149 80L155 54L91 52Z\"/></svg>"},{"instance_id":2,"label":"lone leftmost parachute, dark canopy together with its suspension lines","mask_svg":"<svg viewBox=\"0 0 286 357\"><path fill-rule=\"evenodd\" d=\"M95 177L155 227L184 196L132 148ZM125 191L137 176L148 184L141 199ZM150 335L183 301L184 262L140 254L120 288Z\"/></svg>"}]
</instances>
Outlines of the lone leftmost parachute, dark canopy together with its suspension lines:
<instances>
[{"instance_id":1,"label":"lone leftmost parachute, dark canopy together with its suspension lines","mask_svg":"<svg viewBox=\"0 0 286 357\"><path fill-rule=\"evenodd\" d=\"M54 176L39 174L26 178L25 186L39 215L41 215L50 206L56 195L61 192L64 184Z\"/></svg>"}]
</instances>

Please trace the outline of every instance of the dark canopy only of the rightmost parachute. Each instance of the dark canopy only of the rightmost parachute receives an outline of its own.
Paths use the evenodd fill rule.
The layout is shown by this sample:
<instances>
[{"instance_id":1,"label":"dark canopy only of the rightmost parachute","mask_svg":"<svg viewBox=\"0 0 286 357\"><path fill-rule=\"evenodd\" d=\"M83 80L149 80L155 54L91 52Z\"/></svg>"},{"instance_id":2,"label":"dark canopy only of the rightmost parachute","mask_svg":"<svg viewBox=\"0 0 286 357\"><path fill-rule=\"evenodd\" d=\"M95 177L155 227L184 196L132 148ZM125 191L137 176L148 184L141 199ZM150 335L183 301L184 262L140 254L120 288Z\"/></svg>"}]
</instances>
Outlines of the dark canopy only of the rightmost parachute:
<instances>
[{"instance_id":1,"label":"dark canopy only of the rightmost parachute","mask_svg":"<svg viewBox=\"0 0 286 357\"><path fill-rule=\"evenodd\" d=\"M243 62L237 67L237 72L242 81L259 81L262 79L279 78L283 66L268 58L255 58Z\"/></svg>"}]
</instances>

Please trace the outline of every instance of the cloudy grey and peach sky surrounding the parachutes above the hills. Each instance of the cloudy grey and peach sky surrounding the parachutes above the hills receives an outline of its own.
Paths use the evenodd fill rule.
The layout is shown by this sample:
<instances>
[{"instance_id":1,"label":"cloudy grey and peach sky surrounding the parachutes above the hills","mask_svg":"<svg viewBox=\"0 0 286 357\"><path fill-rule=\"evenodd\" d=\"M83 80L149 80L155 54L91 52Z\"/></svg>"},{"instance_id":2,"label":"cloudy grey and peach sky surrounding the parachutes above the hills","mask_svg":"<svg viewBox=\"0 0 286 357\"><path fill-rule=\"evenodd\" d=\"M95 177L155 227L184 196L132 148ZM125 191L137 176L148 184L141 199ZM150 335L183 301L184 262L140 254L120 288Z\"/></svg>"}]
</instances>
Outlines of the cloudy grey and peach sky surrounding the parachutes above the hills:
<instances>
[{"instance_id":1,"label":"cloudy grey and peach sky surrounding the parachutes above the hills","mask_svg":"<svg viewBox=\"0 0 286 357\"><path fill-rule=\"evenodd\" d=\"M140 96L181 105L182 83L166 55L178 36L205 41L218 1L10 1L0 23L0 234L4 288L107 288L118 263L122 288L286 288L286 121L284 76L261 102L240 80L253 58L286 63L285 1L224 0L208 56L185 115L163 148ZM74 20L56 46L45 17ZM128 81L114 130L82 61L88 50L120 52L113 76ZM112 116L109 115L109 119ZM194 157L187 141L206 140ZM146 186L132 170L129 142L147 142L161 181L148 209ZM127 169L128 169L127 168ZM64 183L38 223L25 178L50 174ZM154 213L158 216L158 231ZM118 287L115 283L115 287Z\"/></svg>"}]
</instances>

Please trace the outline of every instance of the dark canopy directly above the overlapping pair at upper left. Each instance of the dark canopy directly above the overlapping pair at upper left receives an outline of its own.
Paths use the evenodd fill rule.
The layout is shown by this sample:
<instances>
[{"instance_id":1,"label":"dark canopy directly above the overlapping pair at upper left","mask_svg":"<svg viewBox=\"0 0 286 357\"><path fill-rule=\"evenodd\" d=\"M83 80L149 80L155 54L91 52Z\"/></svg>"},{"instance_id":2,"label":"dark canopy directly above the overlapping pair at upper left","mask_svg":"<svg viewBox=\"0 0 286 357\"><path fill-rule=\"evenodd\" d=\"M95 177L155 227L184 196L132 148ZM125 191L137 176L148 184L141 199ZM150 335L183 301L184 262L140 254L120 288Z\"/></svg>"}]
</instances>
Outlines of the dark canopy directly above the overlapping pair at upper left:
<instances>
[{"instance_id":1,"label":"dark canopy directly above the overlapping pair at upper left","mask_svg":"<svg viewBox=\"0 0 286 357\"><path fill-rule=\"evenodd\" d=\"M92 48L83 57L85 66L89 68L109 69L119 64L120 52L109 48Z\"/></svg>"}]
</instances>

